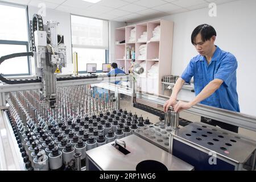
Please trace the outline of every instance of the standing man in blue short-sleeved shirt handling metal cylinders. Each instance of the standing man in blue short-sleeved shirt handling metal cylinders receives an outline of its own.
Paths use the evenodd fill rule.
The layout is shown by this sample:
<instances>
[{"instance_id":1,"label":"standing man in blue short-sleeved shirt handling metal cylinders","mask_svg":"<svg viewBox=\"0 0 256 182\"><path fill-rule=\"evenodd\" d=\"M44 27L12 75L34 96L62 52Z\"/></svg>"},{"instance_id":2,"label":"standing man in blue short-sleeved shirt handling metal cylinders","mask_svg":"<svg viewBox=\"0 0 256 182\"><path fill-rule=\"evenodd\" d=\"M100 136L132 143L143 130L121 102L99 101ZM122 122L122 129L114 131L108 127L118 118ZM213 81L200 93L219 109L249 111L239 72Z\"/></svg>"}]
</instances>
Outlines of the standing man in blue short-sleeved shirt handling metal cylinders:
<instances>
[{"instance_id":1,"label":"standing man in blue short-sleeved shirt handling metal cylinders","mask_svg":"<svg viewBox=\"0 0 256 182\"><path fill-rule=\"evenodd\" d=\"M193 57L181 77L176 81L170 100L164 104L164 111L170 106L176 112L189 109L197 103L240 112L237 94L237 59L232 53L222 51L214 45L216 31L208 24L196 27L191 35L191 42L199 55ZM177 94L184 82L194 79L196 97L190 102L176 103ZM203 117L201 118L203 121ZM210 120L210 125L238 133L238 127Z\"/></svg>"}]
</instances>

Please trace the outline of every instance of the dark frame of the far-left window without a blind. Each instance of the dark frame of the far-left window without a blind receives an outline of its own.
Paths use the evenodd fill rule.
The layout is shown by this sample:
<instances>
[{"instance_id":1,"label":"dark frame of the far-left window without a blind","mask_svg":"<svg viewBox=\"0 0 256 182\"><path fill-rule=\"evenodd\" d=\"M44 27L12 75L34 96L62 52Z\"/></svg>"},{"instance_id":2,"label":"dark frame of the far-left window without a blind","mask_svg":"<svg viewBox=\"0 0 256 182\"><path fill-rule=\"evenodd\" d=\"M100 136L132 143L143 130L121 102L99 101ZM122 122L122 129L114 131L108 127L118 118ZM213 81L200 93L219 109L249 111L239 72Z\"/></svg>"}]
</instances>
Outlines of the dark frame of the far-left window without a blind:
<instances>
[{"instance_id":1,"label":"dark frame of the far-left window without a blind","mask_svg":"<svg viewBox=\"0 0 256 182\"><path fill-rule=\"evenodd\" d=\"M24 8L26 10L26 20L27 20L27 41L20 41L20 40L1 40L0 39L0 44L7 44L7 45L18 45L18 46L26 46L27 48L27 52L30 51L30 46L29 46L29 19L28 19L28 6L26 5L19 5L16 3L11 3L11 2L2 2L0 1L1 5L4 6L13 6L13 7L19 7L19 8ZM14 53L18 53L18 52L14 52ZM5 55L1 55L1 56L5 56ZM1 65L0 65L1 66ZM28 73L17 73L17 74L2 74L2 76L4 77L13 77L13 76L31 76L32 70L31 70L31 60L30 60L30 56L27 56L27 67L28 67Z\"/></svg>"}]
</instances>

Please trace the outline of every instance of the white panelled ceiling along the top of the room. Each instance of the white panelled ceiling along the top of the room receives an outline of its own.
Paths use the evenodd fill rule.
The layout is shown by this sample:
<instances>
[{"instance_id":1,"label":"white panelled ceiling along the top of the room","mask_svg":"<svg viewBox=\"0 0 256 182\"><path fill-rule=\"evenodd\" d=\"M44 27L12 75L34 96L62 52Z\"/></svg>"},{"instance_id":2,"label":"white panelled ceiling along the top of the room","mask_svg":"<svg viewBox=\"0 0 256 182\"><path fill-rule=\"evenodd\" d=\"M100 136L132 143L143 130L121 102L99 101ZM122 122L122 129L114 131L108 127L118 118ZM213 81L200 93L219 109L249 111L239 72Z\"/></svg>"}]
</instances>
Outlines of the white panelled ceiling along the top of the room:
<instances>
[{"instance_id":1,"label":"white panelled ceiling along the top of the room","mask_svg":"<svg viewBox=\"0 0 256 182\"><path fill-rule=\"evenodd\" d=\"M237 0L101 0L89 3L82 0L3 0L22 5L36 6L44 3L46 8L65 11L92 18L108 19L117 22L134 23L146 19L183 13L209 6Z\"/></svg>"}]
</instances>

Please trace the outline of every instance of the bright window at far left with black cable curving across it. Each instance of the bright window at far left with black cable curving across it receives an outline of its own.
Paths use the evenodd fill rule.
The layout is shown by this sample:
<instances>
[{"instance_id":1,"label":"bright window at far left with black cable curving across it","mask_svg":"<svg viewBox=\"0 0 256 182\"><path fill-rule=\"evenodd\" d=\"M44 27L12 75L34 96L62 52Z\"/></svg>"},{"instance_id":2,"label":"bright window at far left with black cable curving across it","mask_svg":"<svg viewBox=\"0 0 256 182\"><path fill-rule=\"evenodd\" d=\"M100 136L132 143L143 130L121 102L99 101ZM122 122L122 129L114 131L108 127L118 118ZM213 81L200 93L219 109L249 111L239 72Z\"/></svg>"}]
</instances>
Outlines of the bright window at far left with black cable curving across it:
<instances>
[{"instance_id":1,"label":"bright window at far left with black cable curving across it","mask_svg":"<svg viewBox=\"0 0 256 182\"><path fill-rule=\"evenodd\" d=\"M28 52L26 6L0 3L0 57L11 53ZM0 65L4 76L30 75L28 57L15 57Z\"/></svg>"}]
</instances>

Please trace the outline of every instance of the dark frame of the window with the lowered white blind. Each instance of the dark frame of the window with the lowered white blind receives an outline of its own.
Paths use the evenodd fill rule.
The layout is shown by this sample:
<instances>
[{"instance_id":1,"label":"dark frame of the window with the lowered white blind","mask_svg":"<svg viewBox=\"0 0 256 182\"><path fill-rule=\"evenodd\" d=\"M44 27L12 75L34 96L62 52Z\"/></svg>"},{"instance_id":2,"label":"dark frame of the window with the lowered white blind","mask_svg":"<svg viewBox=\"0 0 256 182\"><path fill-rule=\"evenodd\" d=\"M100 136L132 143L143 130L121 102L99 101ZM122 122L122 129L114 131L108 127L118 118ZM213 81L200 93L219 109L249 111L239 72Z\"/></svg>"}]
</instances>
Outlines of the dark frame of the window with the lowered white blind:
<instances>
[{"instance_id":1,"label":"dark frame of the window with the lowered white blind","mask_svg":"<svg viewBox=\"0 0 256 182\"><path fill-rule=\"evenodd\" d=\"M98 20L104 20L108 22L108 31L109 31L109 20L106 19L100 19L100 18L93 18L93 17L89 17L89 16L83 16L83 15L77 15L77 14L70 14L70 29L71 29L71 51L72 51L72 55L73 55L73 47L74 48L90 48L90 49L102 49L100 47L97 46L82 46L82 45L77 45L77 44L72 44L72 22L71 22L71 16L81 16L84 18L92 18L92 19L98 19ZM108 32L108 40L109 40L109 32ZM108 41L108 49L105 49L105 63L109 63L109 42ZM73 56L72 56L72 64L73 64ZM80 74L84 74L87 73L87 71L79 71ZM102 73L102 69L101 70L97 70L97 73Z\"/></svg>"}]
</instances>

